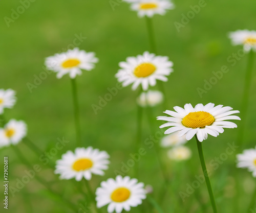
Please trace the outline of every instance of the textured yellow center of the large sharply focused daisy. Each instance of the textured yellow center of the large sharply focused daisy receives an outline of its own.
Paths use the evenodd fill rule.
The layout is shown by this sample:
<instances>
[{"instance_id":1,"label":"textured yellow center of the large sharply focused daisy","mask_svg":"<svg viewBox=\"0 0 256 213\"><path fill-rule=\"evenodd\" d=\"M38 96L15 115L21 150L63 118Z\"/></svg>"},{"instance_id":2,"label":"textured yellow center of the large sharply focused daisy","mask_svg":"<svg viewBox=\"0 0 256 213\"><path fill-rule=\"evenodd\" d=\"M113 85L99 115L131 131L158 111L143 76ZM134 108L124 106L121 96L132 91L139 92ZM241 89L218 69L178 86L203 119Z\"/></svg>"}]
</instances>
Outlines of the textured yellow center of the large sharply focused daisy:
<instances>
[{"instance_id":1,"label":"textured yellow center of the large sharply focused daisy","mask_svg":"<svg viewBox=\"0 0 256 213\"><path fill-rule=\"evenodd\" d=\"M215 122L214 116L209 112L190 112L182 120L182 124L188 128L204 128Z\"/></svg>"}]
</instances>

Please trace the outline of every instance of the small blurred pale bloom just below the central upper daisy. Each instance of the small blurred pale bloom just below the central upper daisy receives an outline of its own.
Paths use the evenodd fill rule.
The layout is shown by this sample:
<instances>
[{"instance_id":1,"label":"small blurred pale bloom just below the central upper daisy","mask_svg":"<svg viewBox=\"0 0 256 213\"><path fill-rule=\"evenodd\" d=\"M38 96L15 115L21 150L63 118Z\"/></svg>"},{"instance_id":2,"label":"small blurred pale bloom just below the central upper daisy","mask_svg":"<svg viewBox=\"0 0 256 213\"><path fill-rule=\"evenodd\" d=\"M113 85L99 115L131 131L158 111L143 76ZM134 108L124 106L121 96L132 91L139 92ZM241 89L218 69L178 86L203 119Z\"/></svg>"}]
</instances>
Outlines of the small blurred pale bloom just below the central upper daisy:
<instances>
[{"instance_id":1,"label":"small blurred pale bloom just below the central upper daisy","mask_svg":"<svg viewBox=\"0 0 256 213\"><path fill-rule=\"evenodd\" d=\"M156 106L163 101L163 93L160 91L153 91L153 90L148 90L146 92L142 92L140 96L137 99L137 103L141 107L145 106Z\"/></svg>"}]
</instances>

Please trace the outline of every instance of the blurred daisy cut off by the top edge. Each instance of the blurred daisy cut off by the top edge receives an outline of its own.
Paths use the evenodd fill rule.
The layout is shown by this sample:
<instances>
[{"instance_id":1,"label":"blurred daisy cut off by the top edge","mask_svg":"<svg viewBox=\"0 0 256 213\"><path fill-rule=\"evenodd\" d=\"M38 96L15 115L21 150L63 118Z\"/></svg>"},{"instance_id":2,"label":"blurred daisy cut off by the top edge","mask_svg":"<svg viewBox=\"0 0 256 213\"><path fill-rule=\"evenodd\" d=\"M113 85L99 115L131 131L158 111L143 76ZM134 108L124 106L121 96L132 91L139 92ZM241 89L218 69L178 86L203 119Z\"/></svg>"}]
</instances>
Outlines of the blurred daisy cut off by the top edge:
<instances>
[{"instance_id":1,"label":"blurred daisy cut off by the top edge","mask_svg":"<svg viewBox=\"0 0 256 213\"><path fill-rule=\"evenodd\" d=\"M174 4L168 0L141 0L133 3L131 9L138 11L139 17L153 17L155 14L164 15L166 10L174 9Z\"/></svg>"}]
</instances>

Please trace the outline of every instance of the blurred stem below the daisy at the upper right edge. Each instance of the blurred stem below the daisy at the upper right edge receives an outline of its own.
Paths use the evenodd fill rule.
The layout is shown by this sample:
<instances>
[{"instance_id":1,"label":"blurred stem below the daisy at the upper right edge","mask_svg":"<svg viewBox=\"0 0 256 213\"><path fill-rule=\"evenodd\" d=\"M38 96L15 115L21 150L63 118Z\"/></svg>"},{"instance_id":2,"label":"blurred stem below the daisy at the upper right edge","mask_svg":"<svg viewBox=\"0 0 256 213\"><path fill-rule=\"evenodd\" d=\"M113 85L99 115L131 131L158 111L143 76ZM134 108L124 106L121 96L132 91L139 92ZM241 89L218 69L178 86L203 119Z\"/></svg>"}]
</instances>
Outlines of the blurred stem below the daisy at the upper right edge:
<instances>
[{"instance_id":1,"label":"blurred stem below the daisy at the upper right edge","mask_svg":"<svg viewBox=\"0 0 256 213\"><path fill-rule=\"evenodd\" d=\"M241 124L238 132L239 146L243 143L243 137L244 137L246 114L247 114L248 102L249 102L249 91L250 91L251 81L252 81L253 57L254 57L253 50L251 50L248 54L248 64L247 64L245 80L244 80L244 92L243 92L242 105L241 105Z\"/></svg>"}]
</instances>

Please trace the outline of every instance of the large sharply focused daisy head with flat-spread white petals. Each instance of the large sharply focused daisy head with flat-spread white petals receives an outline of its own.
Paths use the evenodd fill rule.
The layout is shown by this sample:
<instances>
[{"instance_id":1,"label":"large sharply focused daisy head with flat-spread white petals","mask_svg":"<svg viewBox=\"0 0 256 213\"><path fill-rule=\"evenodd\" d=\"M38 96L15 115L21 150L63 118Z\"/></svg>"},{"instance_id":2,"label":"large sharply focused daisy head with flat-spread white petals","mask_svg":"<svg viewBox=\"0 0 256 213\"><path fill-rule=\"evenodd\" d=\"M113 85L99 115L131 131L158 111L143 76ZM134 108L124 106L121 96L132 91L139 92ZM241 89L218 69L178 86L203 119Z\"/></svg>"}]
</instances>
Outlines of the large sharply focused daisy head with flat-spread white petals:
<instances>
[{"instance_id":1,"label":"large sharply focused daisy head with flat-spread white petals","mask_svg":"<svg viewBox=\"0 0 256 213\"><path fill-rule=\"evenodd\" d=\"M231 107L223 107L223 105L215 106L212 103L197 104L195 108L191 104L185 104L184 109L174 107L176 111L166 110L164 113L170 116L159 116L157 120L167 121L160 128L171 127L164 134L178 132L178 136L186 135L186 139L190 140L197 135L198 140L202 142L207 139L208 134L217 137L219 133L223 133L223 128L236 128L237 125L226 120L241 120L234 113L238 110L232 110Z\"/></svg>"}]
</instances>

